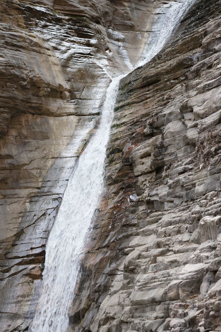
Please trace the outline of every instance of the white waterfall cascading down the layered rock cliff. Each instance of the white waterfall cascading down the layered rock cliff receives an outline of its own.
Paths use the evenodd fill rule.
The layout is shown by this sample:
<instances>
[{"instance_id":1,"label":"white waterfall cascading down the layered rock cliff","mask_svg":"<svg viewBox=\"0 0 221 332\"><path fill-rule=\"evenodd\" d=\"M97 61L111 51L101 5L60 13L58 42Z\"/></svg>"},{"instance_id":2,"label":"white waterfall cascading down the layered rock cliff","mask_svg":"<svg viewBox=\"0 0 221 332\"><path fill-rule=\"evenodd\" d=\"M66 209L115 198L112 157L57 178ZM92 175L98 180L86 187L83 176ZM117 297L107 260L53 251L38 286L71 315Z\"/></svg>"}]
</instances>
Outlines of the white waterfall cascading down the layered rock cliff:
<instances>
[{"instance_id":1,"label":"white waterfall cascading down the layered rock cliff","mask_svg":"<svg viewBox=\"0 0 221 332\"><path fill-rule=\"evenodd\" d=\"M159 37L143 61L149 61L164 45L179 20L194 0L174 4L170 9L170 19L162 25L165 31ZM170 22L170 23L169 23ZM169 24L169 25L168 25ZM169 35L168 35L169 32ZM165 37L166 36L166 37ZM65 191L56 221L52 227L46 247L43 288L37 311L32 324L32 332L66 332L68 311L74 298L79 277L80 255L96 207L104 189L104 161L109 138L113 109L118 85L122 77L118 76L110 83L102 107L101 121L96 134L92 137L79 158L77 169L72 174Z\"/></svg>"}]
</instances>

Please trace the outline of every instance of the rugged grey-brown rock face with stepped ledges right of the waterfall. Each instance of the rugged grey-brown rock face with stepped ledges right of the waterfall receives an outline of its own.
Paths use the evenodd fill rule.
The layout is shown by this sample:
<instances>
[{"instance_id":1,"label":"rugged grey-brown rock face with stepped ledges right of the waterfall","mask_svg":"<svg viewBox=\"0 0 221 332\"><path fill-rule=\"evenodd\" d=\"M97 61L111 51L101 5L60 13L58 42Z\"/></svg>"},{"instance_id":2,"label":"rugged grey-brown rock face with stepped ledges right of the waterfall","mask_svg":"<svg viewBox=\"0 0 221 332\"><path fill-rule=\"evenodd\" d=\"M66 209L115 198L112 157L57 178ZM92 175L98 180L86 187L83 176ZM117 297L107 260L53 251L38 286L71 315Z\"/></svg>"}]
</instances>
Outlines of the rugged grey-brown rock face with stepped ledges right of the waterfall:
<instances>
[{"instance_id":1,"label":"rugged grey-brown rock face with stepped ledges right of the waterfall","mask_svg":"<svg viewBox=\"0 0 221 332\"><path fill-rule=\"evenodd\" d=\"M74 331L221 330L220 8L121 81Z\"/></svg>"}]
</instances>

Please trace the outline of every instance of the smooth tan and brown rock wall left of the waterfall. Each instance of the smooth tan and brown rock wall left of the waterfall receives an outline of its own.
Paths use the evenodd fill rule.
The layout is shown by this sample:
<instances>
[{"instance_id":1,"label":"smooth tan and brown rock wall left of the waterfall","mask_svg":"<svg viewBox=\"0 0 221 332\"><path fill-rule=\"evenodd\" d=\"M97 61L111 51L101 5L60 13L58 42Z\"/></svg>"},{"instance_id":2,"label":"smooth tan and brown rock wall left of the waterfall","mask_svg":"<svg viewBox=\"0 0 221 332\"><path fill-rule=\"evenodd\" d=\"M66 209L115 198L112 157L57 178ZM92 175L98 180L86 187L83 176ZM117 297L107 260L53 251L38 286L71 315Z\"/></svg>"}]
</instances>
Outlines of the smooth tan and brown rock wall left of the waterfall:
<instances>
[{"instance_id":1,"label":"smooth tan and brown rock wall left of the waterfall","mask_svg":"<svg viewBox=\"0 0 221 332\"><path fill-rule=\"evenodd\" d=\"M170 2L1 1L1 331L29 328L47 238L110 76L156 40Z\"/></svg>"}]
</instances>

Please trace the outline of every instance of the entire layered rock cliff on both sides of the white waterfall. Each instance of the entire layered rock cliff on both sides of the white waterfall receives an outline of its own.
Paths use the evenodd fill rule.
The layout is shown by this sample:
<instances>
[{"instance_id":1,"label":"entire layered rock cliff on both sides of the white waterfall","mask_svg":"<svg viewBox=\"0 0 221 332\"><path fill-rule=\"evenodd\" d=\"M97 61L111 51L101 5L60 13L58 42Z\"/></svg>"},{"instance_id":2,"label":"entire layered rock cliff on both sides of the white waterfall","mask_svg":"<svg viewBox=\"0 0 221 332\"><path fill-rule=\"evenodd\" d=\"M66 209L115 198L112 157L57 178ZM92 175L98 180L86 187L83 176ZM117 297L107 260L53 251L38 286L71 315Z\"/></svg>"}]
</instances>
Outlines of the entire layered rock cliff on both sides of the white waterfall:
<instances>
[{"instance_id":1,"label":"entire layered rock cliff on both sides of the white waterfall","mask_svg":"<svg viewBox=\"0 0 221 332\"><path fill-rule=\"evenodd\" d=\"M172 2L1 2L1 331L30 331L47 238L110 76L133 69ZM70 331L221 330L220 5L197 0L121 81Z\"/></svg>"}]
</instances>

